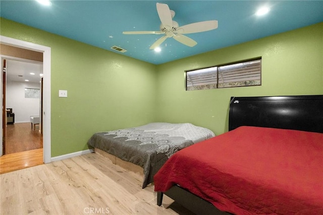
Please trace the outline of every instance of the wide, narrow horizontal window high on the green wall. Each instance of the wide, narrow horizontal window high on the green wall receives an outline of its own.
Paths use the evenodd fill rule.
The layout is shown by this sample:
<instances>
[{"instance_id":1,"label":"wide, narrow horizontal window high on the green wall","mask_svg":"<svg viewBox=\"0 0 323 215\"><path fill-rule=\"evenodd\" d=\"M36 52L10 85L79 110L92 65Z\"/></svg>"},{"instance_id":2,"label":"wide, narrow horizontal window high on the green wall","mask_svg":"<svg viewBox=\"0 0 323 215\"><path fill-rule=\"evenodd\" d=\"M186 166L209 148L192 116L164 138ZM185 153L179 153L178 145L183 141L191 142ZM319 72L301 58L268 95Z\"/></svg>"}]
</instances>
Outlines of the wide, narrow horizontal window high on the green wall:
<instances>
[{"instance_id":1,"label":"wide, narrow horizontal window high on the green wall","mask_svg":"<svg viewBox=\"0 0 323 215\"><path fill-rule=\"evenodd\" d=\"M261 85L261 58L186 71L186 90Z\"/></svg>"}]
</instances>

